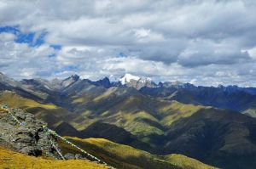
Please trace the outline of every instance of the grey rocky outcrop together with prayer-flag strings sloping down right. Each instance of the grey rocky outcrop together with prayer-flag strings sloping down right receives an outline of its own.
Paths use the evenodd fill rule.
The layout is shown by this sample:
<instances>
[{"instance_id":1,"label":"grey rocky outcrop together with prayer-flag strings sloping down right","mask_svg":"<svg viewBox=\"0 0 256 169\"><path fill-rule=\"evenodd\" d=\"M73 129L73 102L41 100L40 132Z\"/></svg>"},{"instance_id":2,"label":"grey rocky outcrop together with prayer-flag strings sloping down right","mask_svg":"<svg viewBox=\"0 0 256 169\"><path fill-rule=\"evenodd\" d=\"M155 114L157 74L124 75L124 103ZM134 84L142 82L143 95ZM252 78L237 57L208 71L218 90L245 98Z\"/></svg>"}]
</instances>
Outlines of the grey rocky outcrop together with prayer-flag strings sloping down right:
<instances>
[{"instance_id":1,"label":"grey rocky outcrop together with prayer-flag strings sloping down right","mask_svg":"<svg viewBox=\"0 0 256 169\"><path fill-rule=\"evenodd\" d=\"M87 156L68 152L65 155L62 154L57 142L58 137L61 136L50 130L44 121L36 119L34 115L24 110L10 109L9 112L0 110L0 147L26 155L43 155L62 160L90 160L104 164L103 161L86 152ZM62 141L64 139L64 142L66 140L61 139ZM66 144L83 150L68 141Z\"/></svg>"}]
</instances>

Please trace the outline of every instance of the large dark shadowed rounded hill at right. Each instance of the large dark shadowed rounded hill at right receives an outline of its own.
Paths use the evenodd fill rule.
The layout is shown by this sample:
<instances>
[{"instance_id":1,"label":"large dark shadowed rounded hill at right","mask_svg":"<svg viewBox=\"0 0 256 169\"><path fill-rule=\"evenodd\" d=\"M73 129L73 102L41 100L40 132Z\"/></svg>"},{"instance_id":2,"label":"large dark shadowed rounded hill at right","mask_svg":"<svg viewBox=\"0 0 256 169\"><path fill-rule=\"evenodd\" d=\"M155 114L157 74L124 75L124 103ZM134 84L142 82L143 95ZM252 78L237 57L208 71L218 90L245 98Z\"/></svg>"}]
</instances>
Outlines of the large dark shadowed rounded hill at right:
<instances>
[{"instance_id":1,"label":"large dark shadowed rounded hill at right","mask_svg":"<svg viewBox=\"0 0 256 169\"><path fill-rule=\"evenodd\" d=\"M173 123L166 136L165 154L188 155L221 168L253 168L256 121L228 110L199 110Z\"/></svg>"}]
</instances>

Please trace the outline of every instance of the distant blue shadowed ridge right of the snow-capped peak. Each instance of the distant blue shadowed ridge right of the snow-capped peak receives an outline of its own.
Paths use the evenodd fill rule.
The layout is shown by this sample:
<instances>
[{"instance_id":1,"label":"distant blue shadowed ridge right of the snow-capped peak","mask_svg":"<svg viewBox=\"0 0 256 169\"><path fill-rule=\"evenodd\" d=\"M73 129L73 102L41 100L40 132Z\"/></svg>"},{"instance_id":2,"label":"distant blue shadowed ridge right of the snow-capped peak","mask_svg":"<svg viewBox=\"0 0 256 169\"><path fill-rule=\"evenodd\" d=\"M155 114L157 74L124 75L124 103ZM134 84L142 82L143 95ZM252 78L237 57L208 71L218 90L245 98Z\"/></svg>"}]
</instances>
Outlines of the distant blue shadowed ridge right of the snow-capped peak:
<instances>
[{"instance_id":1,"label":"distant blue shadowed ridge right of the snow-capped peak","mask_svg":"<svg viewBox=\"0 0 256 169\"><path fill-rule=\"evenodd\" d=\"M189 83L168 87L143 87L144 94L177 100L183 104L201 104L221 109L244 111L254 109L256 89L253 87L195 87Z\"/></svg>"}]
</instances>

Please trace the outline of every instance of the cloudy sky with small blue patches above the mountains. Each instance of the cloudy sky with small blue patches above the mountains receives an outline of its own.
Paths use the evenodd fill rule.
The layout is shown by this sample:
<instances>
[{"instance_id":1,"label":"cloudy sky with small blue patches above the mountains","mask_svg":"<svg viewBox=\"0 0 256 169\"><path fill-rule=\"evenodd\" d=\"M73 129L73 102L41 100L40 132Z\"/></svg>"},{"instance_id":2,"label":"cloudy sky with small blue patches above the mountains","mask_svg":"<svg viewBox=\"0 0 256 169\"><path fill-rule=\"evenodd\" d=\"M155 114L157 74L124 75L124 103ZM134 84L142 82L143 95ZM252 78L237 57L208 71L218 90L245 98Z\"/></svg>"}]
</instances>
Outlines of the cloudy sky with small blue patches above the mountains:
<instances>
[{"instance_id":1,"label":"cloudy sky with small blue patches above the mountains","mask_svg":"<svg viewBox=\"0 0 256 169\"><path fill-rule=\"evenodd\" d=\"M15 79L256 87L254 0L0 0L0 71Z\"/></svg>"}]
</instances>

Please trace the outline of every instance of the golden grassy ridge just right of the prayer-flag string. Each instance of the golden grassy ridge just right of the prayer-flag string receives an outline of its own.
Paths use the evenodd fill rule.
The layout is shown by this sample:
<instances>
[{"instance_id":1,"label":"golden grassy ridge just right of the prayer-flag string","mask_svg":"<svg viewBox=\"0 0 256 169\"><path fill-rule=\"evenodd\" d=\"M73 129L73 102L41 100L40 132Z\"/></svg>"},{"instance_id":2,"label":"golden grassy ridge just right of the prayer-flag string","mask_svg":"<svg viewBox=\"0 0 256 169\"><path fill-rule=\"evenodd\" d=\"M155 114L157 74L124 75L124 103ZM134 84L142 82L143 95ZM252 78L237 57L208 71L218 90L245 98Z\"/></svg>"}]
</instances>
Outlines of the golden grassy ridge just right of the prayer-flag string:
<instances>
[{"instance_id":1,"label":"golden grassy ridge just right of the prayer-flag string","mask_svg":"<svg viewBox=\"0 0 256 169\"><path fill-rule=\"evenodd\" d=\"M168 163L158 163L154 159L150 159L150 154L131 148L130 146L115 144L104 138L70 138L73 144L79 145L82 149L96 155L102 161L107 162L111 166L122 169L142 169L142 168L165 168L165 169L179 169ZM78 152L68 144L61 144L63 152ZM158 165L158 167L153 167ZM148 166L148 167L146 167ZM162 166L162 167L159 167Z\"/></svg>"}]
</instances>

